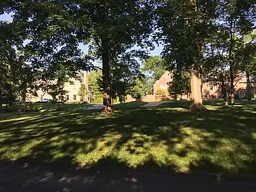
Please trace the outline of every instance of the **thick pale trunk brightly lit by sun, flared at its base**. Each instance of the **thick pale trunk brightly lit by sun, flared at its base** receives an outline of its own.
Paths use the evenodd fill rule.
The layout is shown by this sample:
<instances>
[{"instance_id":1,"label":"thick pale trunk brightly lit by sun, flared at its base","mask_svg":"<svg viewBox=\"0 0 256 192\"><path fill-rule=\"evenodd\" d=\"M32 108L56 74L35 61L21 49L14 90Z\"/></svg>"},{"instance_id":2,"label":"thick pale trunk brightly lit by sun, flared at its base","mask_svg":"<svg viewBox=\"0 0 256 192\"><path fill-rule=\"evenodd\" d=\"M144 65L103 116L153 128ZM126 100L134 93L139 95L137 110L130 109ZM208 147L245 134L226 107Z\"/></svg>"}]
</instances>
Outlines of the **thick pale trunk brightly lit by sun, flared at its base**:
<instances>
[{"instance_id":1,"label":"thick pale trunk brightly lit by sun, flared at its base","mask_svg":"<svg viewBox=\"0 0 256 192\"><path fill-rule=\"evenodd\" d=\"M201 112L207 110L203 106L201 96L201 74L197 70L191 69L191 99L192 104L189 110L193 112Z\"/></svg>"}]
</instances>

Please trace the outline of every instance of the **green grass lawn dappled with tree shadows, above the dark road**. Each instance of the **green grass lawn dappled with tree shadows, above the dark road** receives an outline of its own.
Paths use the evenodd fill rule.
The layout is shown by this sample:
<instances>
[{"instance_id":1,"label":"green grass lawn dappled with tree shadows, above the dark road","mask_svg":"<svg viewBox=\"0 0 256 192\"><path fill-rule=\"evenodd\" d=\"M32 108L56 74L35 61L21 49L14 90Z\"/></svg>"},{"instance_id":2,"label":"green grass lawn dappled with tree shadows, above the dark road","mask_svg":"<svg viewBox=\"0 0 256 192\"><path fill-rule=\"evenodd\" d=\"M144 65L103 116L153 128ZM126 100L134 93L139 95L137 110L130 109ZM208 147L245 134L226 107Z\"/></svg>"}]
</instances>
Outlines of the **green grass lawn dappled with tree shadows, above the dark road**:
<instances>
[{"instance_id":1,"label":"green grass lawn dappled with tree shadows, above the dark road","mask_svg":"<svg viewBox=\"0 0 256 192\"><path fill-rule=\"evenodd\" d=\"M0 115L1 160L101 164L170 172L256 176L256 102L143 102L104 115L85 110Z\"/></svg>"}]
</instances>

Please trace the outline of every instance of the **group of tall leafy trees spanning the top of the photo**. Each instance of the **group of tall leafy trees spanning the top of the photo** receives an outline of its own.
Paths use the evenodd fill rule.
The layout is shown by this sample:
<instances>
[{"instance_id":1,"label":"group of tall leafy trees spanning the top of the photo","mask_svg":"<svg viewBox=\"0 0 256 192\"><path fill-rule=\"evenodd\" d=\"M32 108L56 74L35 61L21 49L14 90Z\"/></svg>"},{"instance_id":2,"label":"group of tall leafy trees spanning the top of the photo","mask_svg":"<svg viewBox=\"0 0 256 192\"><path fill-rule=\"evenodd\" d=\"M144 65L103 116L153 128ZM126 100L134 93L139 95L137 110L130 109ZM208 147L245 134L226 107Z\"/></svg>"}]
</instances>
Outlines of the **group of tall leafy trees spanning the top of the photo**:
<instances>
[{"instance_id":1,"label":"group of tall leafy trees spanning the top of the photo","mask_svg":"<svg viewBox=\"0 0 256 192\"><path fill-rule=\"evenodd\" d=\"M75 77L79 70L99 69L93 61L100 59L99 92L103 93L106 113L112 110L111 96L122 98L131 91L136 79L143 79L137 75L134 57L146 58L146 51L127 51L135 45L141 50L153 49L154 42L161 41L162 58L151 58L142 69L146 76L154 72L148 87L152 88L165 69L175 71L177 80L187 79L190 73L191 110L197 111L205 110L202 75L222 82L225 98L228 79L233 104L236 75L244 71L249 79L253 74L255 9L254 0L5 0L0 13L13 13L13 22L2 22L0 27L13 32L13 36L7 33L3 42L15 46L14 53L22 51L22 61L20 57L16 60L28 62L30 71L40 73L32 77L56 79L59 73ZM88 45L86 57L82 57L79 43ZM8 54L2 51L1 58ZM11 67L8 62L5 71ZM159 63L164 67L158 67ZM4 78L1 77L1 95L7 82ZM33 85L24 86L30 90ZM175 83L170 91L176 94Z\"/></svg>"}]
</instances>

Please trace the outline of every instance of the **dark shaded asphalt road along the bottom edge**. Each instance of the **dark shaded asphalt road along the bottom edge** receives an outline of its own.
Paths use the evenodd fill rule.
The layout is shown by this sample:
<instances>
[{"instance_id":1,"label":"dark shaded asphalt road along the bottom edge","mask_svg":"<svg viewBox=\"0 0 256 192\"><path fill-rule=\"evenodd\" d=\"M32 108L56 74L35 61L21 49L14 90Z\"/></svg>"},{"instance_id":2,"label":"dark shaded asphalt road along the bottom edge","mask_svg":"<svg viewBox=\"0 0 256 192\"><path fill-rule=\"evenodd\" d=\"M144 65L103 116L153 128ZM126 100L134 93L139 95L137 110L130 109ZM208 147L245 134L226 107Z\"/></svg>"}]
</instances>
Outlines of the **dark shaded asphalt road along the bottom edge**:
<instances>
[{"instance_id":1,"label":"dark shaded asphalt road along the bottom edge","mask_svg":"<svg viewBox=\"0 0 256 192\"><path fill-rule=\"evenodd\" d=\"M64 166L0 162L0 191L256 191L256 185L198 179L195 177L146 174L113 168L81 170Z\"/></svg>"}]
</instances>

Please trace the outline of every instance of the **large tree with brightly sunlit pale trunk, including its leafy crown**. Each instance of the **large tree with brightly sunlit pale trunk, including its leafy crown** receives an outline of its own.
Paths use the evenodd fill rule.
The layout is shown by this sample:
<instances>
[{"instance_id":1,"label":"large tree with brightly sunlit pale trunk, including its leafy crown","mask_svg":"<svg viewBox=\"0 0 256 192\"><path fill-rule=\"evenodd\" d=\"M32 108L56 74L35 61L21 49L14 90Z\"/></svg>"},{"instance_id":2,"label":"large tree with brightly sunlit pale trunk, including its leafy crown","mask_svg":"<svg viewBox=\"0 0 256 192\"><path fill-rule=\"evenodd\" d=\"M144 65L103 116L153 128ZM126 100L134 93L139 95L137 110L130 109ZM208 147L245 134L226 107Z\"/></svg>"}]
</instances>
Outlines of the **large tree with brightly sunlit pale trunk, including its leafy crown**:
<instances>
[{"instance_id":1,"label":"large tree with brightly sunlit pale trunk, including its leafy crown","mask_svg":"<svg viewBox=\"0 0 256 192\"><path fill-rule=\"evenodd\" d=\"M205 38L216 18L216 1L161 1L159 34L164 42L164 59L169 71L191 71L190 110L205 110L201 97L201 75Z\"/></svg>"}]
</instances>

